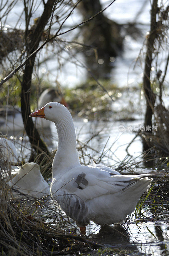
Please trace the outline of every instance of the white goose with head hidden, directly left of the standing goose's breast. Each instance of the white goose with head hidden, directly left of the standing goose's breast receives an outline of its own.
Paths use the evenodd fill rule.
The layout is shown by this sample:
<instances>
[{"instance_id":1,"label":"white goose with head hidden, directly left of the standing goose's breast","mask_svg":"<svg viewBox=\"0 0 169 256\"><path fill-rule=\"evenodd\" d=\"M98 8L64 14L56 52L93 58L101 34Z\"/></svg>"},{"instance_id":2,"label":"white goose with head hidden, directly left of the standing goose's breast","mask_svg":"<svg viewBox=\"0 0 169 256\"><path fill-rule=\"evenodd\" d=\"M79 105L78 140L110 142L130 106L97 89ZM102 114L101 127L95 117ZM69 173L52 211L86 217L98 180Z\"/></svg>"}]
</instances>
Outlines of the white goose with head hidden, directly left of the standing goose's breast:
<instances>
[{"instance_id":1,"label":"white goose with head hidden, directly left of the standing goose's breast","mask_svg":"<svg viewBox=\"0 0 169 256\"><path fill-rule=\"evenodd\" d=\"M39 164L26 163L19 169L12 170L8 179L10 179L8 182L9 186L16 190L12 191L13 196L18 198L22 194L33 196L33 198L42 198L50 195L50 186L44 180Z\"/></svg>"}]
</instances>

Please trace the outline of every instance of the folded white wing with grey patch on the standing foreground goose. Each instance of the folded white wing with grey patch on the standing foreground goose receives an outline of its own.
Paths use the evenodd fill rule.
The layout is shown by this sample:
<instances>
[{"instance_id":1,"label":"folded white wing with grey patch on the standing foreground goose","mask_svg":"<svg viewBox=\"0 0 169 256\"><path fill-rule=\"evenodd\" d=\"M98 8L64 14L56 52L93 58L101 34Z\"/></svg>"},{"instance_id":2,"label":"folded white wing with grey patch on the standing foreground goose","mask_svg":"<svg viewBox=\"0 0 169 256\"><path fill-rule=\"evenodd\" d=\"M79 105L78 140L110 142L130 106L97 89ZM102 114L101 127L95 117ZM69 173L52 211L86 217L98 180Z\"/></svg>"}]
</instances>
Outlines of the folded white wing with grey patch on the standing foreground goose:
<instances>
[{"instance_id":1,"label":"folded white wing with grey patch on the standing foreground goose","mask_svg":"<svg viewBox=\"0 0 169 256\"><path fill-rule=\"evenodd\" d=\"M112 172L93 166L73 168L66 179L65 177L63 179L62 188L60 186L58 191L66 191L67 195L76 195L83 201L124 191L141 180L139 175L112 175ZM148 180L148 178L143 179Z\"/></svg>"}]
</instances>

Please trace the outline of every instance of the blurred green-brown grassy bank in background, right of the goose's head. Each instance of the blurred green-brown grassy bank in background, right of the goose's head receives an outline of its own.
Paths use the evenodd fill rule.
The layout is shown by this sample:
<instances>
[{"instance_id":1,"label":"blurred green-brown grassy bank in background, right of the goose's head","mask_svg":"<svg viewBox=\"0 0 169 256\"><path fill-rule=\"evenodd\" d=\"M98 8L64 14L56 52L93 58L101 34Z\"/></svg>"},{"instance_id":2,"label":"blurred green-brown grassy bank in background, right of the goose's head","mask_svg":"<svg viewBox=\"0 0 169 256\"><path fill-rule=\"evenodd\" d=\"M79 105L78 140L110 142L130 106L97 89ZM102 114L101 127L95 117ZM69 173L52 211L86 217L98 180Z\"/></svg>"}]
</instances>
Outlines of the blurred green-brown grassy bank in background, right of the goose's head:
<instances>
[{"instance_id":1,"label":"blurred green-brown grassy bank in background, right of the goose's head","mask_svg":"<svg viewBox=\"0 0 169 256\"><path fill-rule=\"evenodd\" d=\"M65 99L71 114L88 120L109 121L110 118L120 121L135 120L136 106L127 98L133 97L134 93L139 95L139 89L135 86L130 90L125 86L119 88L109 80L102 81L102 84L106 92L103 92L93 79L71 89L65 88Z\"/></svg>"}]
</instances>

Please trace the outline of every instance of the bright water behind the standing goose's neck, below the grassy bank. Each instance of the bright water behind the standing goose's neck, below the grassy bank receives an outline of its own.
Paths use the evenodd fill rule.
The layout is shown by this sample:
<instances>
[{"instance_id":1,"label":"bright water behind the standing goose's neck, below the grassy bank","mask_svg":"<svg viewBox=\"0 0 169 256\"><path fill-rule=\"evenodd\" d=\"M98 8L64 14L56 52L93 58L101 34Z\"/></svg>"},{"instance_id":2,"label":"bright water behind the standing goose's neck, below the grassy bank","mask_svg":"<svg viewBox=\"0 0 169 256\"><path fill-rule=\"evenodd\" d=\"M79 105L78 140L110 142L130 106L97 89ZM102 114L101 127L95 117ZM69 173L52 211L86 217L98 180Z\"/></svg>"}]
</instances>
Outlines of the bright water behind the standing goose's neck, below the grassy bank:
<instances>
[{"instance_id":1,"label":"bright water behind the standing goose's neck, below the grassy bank","mask_svg":"<svg viewBox=\"0 0 169 256\"><path fill-rule=\"evenodd\" d=\"M113 165L124 159L127 155L125 149L130 141L135 137L135 128L139 128L142 124L141 120L135 121L87 121L86 119L74 118L74 126L76 132L76 139L82 144L88 145L87 154L88 158L98 159L100 153L103 151L102 160L108 160L108 156L112 155L113 158L109 159L109 165ZM139 128L140 129L140 128ZM15 136L13 136L15 134ZM51 123L50 129L44 129L41 133L42 138L47 143L49 150L55 150L57 148L57 132L54 123ZM98 134L97 136L94 136ZM15 137L15 147L18 150L18 154L23 157L29 157L30 143L26 134L23 135L23 131L9 131L8 136L11 139ZM93 138L92 138L93 137ZM91 139L92 138L92 139ZM77 142L77 147L79 143ZM22 151L22 152L21 152ZM142 152L142 143L138 138L136 139L128 149L129 153L136 157ZM26 158L27 159L27 158Z\"/></svg>"}]
</instances>

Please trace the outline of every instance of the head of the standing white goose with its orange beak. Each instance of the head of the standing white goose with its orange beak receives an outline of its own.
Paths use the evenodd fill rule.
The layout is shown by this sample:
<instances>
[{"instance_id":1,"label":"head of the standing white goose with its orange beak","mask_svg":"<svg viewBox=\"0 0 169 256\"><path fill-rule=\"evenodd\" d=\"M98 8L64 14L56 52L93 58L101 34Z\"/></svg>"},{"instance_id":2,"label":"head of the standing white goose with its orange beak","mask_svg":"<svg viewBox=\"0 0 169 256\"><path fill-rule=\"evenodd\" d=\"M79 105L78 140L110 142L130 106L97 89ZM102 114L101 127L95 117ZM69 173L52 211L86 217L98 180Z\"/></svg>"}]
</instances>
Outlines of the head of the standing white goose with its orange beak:
<instances>
[{"instance_id":1,"label":"head of the standing white goose with its orange beak","mask_svg":"<svg viewBox=\"0 0 169 256\"><path fill-rule=\"evenodd\" d=\"M43 108L31 113L30 117L40 117L46 120L58 123L61 120L70 118L71 114L68 109L59 102L49 102Z\"/></svg>"}]
</instances>

